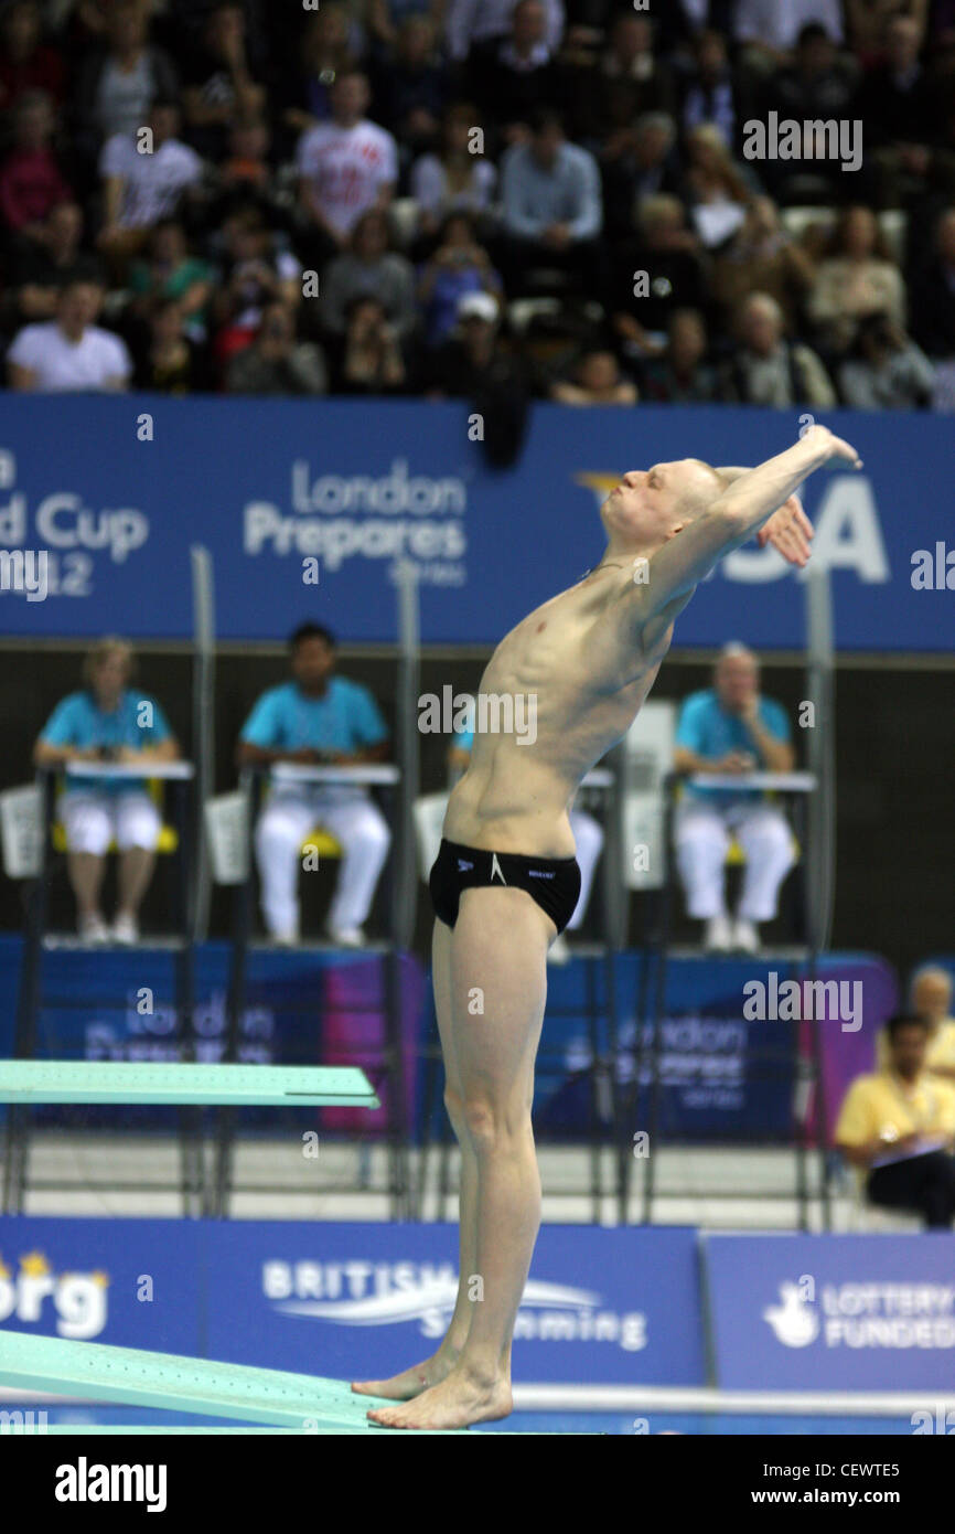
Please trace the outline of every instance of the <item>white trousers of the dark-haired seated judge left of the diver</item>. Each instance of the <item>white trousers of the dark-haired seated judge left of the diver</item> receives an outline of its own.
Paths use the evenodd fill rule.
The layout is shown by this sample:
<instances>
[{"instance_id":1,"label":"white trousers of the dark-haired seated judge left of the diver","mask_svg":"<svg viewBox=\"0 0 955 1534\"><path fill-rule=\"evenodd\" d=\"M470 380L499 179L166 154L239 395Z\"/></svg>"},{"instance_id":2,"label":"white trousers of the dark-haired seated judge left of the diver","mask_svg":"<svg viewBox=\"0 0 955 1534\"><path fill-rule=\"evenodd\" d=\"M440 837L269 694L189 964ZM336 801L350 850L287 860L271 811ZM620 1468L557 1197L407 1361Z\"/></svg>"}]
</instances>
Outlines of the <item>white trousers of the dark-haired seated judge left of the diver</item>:
<instances>
[{"instance_id":1,"label":"white trousers of the dark-haired seated judge left of the diver","mask_svg":"<svg viewBox=\"0 0 955 1534\"><path fill-rule=\"evenodd\" d=\"M256 825L262 914L273 936L299 931L302 842L317 825L342 844L342 867L328 913L330 927L360 927L374 899L391 845L388 822L363 788L307 788L273 793Z\"/></svg>"}]
</instances>

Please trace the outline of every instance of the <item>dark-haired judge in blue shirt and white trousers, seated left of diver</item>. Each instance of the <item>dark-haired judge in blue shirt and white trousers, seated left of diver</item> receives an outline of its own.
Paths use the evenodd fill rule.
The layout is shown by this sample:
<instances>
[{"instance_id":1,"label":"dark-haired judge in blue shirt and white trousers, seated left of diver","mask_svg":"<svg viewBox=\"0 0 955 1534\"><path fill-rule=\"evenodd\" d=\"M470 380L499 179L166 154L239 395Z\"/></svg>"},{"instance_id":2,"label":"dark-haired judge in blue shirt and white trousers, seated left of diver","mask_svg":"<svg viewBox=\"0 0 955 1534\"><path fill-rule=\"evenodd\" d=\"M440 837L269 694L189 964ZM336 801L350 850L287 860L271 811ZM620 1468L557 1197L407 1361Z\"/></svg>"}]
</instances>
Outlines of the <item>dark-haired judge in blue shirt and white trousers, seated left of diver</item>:
<instances>
[{"instance_id":1,"label":"dark-haired judge in blue shirt and white trousers, seated left of diver","mask_svg":"<svg viewBox=\"0 0 955 1534\"><path fill-rule=\"evenodd\" d=\"M242 726L239 765L386 761L388 729L371 692L334 675L334 635L304 623L288 644L293 680L254 704ZM274 942L297 943L302 842L317 825L342 844L328 937L339 948L360 948L391 831L368 790L356 784L273 785L254 831L265 927Z\"/></svg>"}]
</instances>

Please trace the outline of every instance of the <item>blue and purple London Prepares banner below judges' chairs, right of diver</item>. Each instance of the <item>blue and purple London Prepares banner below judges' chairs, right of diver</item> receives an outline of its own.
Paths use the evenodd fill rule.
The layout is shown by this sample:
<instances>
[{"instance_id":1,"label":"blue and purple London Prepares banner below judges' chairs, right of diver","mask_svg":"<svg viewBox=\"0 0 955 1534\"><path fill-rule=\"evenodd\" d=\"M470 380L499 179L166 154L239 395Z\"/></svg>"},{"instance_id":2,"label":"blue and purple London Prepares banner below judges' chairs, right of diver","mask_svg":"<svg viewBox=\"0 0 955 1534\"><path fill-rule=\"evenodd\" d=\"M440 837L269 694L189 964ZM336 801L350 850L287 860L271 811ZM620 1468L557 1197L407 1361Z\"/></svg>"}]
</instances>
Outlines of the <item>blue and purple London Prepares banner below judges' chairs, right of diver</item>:
<instances>
[{"instance_id":1,"label":"blue and purple London Prepares banner below judges' chairs, right of diver","mask_svg":"<svg viewBox=\"0 0 955 1534\"><path fill-rule=\"evenodd\" d=\"M832 1127L849 1080L871 1071L875 1034L895 1008L892 968L875 954L826 954L816 982L805 966L765 959L670 959L656 1054L659 1089L651 1103L653 1023L638 1026L639 997L655 996L656 969L641 979L639 953L615 960L618 1006L616 1078L633 1092L635 1131L656 1123L670 1138L789 1140L793 1135L794 1037L805 1054L819 1025L826 1121ZM590 1126L592 1060L587 1003L605 1037L604 971L595 965L547 976L547 1012L535 1069L535 1127L555 1137ZM816 1104L819 1106L819 1104Z\"/></svg>"}]
</instances>

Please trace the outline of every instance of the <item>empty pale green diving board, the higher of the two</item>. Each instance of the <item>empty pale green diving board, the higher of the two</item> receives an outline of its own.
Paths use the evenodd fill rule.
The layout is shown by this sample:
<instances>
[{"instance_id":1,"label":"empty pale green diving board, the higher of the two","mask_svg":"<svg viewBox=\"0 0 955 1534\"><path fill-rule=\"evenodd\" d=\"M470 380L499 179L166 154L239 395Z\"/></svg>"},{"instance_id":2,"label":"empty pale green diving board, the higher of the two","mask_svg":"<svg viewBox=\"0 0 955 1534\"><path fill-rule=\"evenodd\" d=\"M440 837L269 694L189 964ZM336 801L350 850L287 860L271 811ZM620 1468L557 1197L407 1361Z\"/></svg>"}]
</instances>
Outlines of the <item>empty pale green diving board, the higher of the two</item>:
<instances>
[{"instance_id":1,"label":"empty pale green diving board, the higher of the two","mask_svg":"<svg viewBox=\"0 0 955 1534\"><path fill-rule=\"evenodd\" d=\"M357 1066L0 1060L0 1103L380 1108Z\"/></svg>"}]
</instances>

